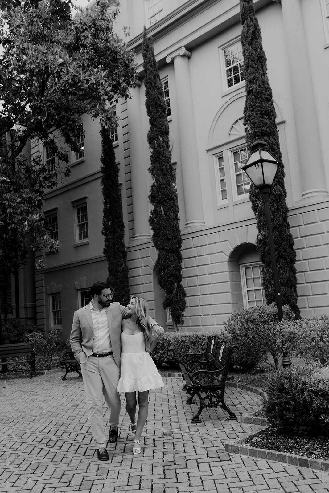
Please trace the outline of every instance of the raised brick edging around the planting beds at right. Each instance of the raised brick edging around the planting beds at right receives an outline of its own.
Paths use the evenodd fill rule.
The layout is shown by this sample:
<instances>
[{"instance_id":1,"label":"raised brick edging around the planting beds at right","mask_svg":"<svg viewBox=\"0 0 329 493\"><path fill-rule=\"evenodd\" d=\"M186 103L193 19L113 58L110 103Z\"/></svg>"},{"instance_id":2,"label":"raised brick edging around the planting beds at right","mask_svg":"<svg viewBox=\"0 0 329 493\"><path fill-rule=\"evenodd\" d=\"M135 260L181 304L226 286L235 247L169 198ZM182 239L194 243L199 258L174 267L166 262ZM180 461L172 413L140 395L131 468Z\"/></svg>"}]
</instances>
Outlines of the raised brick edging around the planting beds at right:
<instances>
[{"instance_id":1,"label":"raised brick edging around the planting beds at right","mask_svg":"<svg viewBox=\"0 0 329 493\"><path fill-rule=\"evenodd\" d=\"M246 384L239 384L237 382L226 382L228 387L243 388L244 390L249 390L250 392L256 393L261 397L266 397L266 393L256 387L251 387ZM260 408L261 409L261 408ZM257 411L256 411L257 412ZM306 467L311 469L318 469L320 471L329 472L329 461L328 460L317 460L308 457L295 456L292 454L285 454L283 452L276 452L275 450L267 449L257 449L256 447L249 447L248 445L242 445L246 440L250 440L255 436L261 435L266 429L269 428L266 418L258 418L256 416L241 416L241 423L256 424L263 426L262 429L248 435L239 440L228 440L225 442L225 451L229 454L238 454L240 456L249 456L253 458L275 460L277 462L283 462L285 464Z\"/></svg>"}]
</instances>

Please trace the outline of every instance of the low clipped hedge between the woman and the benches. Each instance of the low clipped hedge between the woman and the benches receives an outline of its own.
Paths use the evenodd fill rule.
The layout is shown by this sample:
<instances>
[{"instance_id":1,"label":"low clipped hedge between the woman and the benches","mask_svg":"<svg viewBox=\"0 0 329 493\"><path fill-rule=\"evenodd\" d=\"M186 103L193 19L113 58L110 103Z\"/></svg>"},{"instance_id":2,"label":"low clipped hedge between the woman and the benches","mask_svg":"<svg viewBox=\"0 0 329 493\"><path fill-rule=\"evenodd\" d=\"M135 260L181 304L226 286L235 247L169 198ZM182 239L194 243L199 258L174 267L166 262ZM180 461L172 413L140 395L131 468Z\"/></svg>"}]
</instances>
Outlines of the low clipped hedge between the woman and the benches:
<instances>
[{"instance_id":1,"label":"low clipped hedge between the woman and the benches","mask_svg":"<svg viewBox=\"0 0 329 493\"><path fill-rule=\"evenodd\" d=\"M222 340L221 332L165 332L157 342L151 356L154 362L161 366L168 364L177 366L183 354L187 352L205 351L209 336Z\"/></svg>"}]
</instances>

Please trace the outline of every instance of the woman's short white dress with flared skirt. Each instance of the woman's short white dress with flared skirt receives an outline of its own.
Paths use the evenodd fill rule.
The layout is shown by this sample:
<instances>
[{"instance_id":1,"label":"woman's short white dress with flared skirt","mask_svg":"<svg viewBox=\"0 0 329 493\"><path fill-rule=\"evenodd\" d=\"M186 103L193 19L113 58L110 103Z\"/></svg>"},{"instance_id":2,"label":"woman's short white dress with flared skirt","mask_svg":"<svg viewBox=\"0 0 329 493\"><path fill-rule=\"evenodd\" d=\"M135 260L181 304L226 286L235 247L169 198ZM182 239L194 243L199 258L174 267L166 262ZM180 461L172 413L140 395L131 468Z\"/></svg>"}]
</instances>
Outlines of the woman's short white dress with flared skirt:
<instances>
[{"instance_id":1,"label":"woman's short white dress with flared skirt","mask_svg":"<svg viewBox=\"0 0 329 493\"><path fill-rule=\"evenodd\" d=\"M163 387L164 383L155 363L145 351L143 332L121 334L121 372L118 392L144 392L151 388Z\"/></svg>"}]
</instances>

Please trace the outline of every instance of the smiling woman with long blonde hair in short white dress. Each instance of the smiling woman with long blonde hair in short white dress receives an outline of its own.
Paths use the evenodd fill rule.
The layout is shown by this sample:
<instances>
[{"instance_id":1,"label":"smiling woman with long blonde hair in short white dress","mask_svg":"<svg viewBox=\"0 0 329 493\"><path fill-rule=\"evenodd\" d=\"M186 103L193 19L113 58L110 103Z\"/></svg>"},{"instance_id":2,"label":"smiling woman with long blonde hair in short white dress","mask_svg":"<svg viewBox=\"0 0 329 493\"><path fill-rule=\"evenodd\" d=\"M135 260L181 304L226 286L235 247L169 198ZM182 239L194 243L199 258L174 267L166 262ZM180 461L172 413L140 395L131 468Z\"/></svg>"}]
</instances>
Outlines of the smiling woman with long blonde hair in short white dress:
<instances>
[{"instance_id":1,"label":"smiling woman with long blonde hair in short white dress","mask_svg":"<svg viewBox=\"0 0 329 493\"><path fill-rule=\"evenodd\" d=\"M121 373L117 390L126 394L126 410L131 432L135 436L133 454L142 452L140 440L148 413L148 391L164 385L148 354L155 348L159 335L152 335L152 329L147 328L147 311L146 300L133 296L128 305L131 318L123 319L121 325ZM136 391L139 405L137 422Z\"/></svg>"}]
</instances>

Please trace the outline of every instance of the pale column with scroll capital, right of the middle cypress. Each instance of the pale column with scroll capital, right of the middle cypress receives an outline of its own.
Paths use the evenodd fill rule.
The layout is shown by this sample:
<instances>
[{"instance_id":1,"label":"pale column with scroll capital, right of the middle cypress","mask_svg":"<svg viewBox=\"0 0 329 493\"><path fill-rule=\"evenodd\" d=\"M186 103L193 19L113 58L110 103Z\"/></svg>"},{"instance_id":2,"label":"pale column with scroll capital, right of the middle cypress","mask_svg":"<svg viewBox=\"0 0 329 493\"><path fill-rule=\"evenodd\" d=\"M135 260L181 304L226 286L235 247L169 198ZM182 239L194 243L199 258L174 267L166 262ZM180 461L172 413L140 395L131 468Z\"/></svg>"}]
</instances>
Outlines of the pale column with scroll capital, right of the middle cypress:
<instances>
[{"instance_id":1,"label":"pale column with scroll capital, right of the middle cypress","mask_svg":"<svg viewBox=\"0 0 329 493\"><path fill-rule=\"evenodd\" d=\"M167 56L167 63L174 63L178 128L180 135L183 193L185 205L185 228L205 226L201 196L198 148L194 122L192 88L188 59L191 53L183 46Z\"/></svg>"}]
</instances>

